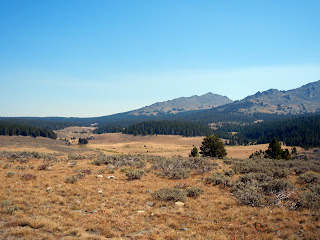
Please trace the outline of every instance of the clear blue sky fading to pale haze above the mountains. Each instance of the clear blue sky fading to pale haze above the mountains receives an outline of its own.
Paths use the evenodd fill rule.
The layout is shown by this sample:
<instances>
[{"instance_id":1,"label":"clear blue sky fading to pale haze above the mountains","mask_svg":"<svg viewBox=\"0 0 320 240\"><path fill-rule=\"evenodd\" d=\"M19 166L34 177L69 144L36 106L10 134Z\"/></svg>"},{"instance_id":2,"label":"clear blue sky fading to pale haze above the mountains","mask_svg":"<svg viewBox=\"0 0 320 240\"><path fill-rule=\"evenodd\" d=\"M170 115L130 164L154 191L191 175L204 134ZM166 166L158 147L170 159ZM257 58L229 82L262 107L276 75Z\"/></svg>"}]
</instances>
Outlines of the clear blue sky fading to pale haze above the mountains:
<instances>
[{"instance_id":1,"label":"clear blue sky fading to pale haze above the mountains","mask_svg":"<svg viewBox=\"0 0 320 240\"><path fill-rule=\"evenodd\" d=\"M0 116L300 87L320 80L319 12L319 0L1 0Z\"/></svg>"}]
</instances>

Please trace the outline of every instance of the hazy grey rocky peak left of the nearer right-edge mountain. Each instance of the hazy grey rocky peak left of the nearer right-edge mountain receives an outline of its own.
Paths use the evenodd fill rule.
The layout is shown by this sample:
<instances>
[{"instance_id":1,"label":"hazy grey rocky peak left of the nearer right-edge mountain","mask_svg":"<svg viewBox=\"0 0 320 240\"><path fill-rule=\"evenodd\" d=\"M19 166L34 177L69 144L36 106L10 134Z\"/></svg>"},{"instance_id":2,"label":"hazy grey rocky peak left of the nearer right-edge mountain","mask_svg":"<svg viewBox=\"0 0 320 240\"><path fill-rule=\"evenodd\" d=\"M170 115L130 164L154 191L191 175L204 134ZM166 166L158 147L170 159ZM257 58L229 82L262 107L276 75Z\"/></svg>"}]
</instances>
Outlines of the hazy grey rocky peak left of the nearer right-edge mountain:
<instances>
[{"instance_id":1,"label":"hazy grey rocky peak left of the nearer right-edge mountain","mask_svg":"<svg viewBox=\"0 0 320 240\"><path fill-rule=\"evenodd\" d=\"M195 95L191 97L180 97L165 102L157 102L150 106L131 111L130 114L136 116L176 114L191 110L210 109L231 102L232 100L228 97L209 92L202 96Z\"/></svg>"}]
</instances>

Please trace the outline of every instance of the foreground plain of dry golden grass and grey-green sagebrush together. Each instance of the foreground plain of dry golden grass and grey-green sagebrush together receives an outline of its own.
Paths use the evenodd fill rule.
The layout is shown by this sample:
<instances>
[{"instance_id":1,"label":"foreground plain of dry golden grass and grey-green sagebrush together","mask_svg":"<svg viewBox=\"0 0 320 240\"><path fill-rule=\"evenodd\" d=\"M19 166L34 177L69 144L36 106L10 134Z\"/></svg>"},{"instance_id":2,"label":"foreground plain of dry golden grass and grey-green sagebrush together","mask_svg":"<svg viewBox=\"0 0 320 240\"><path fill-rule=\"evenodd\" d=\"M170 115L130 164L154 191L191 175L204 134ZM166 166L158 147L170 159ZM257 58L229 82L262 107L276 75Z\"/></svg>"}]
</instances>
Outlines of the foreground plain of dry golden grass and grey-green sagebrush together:
<instances>
[{"instance_id":1,"label":"foreground plain of dry golden grass and grey-green sagebrush together","mask_svg":"<svg viewBox=\"0 0 320 240\"><path fill-rule=\"evenodd\" d=\"M290 161L111 156L24 139L0 143L1 239L320 238L314 150Z\"/></svg>"}]
</instances>

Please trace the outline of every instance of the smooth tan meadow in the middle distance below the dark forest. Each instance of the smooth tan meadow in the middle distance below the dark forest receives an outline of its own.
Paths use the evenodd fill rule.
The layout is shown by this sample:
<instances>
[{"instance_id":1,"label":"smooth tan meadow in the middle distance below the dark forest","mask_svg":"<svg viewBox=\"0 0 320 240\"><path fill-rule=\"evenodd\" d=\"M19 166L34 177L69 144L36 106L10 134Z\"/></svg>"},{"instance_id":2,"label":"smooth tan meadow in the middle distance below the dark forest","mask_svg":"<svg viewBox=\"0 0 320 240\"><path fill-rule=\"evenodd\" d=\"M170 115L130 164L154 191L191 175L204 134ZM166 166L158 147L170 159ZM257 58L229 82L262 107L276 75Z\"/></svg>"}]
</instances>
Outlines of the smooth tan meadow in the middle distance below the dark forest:
<instances>
[{"instance_id":1,"label":"smooth tan meadow in the middle distance below the dark forest","mask_svg":"<svg viewBox=\"0 0 320 240\"><path fill-rule=\"evenodd\" d=\"M106 154L147 154L164 157L189 156L193 146L198 149L204 137L182 137L176 135L133 136L121 133L94 135L88 147ZM288 147L289 150L291 147ZM248 158L255 151L265 151L268 144L250 146L226 146L228 158ZM298 151L301 148L298 147Z\"/></svg>"}]
</instances>

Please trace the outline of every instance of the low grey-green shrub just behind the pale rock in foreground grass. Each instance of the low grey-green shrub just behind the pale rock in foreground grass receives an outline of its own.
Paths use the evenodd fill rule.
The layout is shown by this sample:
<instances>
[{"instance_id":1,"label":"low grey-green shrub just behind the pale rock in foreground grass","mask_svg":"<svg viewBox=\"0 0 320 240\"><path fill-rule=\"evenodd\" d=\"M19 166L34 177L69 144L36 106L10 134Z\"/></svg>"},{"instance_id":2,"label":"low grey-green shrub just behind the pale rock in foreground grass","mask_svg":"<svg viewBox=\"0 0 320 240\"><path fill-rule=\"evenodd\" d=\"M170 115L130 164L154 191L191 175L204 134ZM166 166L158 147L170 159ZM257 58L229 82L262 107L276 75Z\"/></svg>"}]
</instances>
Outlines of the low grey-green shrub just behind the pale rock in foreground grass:
<instances>
[{"instance_id":1,"label":"low grey-green shrub just behind the pale rock in foreground grass","mask_svg":"<svg viewBox=\"0 0 320 240\"><path fill-rule=\"evenodd\" d=\"M161 201L185 202L187 199L186 191L176 188L161 188L151 195Z\"/></svg>"}]
</instances>

